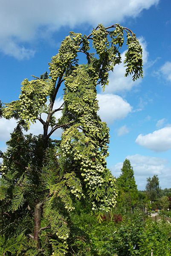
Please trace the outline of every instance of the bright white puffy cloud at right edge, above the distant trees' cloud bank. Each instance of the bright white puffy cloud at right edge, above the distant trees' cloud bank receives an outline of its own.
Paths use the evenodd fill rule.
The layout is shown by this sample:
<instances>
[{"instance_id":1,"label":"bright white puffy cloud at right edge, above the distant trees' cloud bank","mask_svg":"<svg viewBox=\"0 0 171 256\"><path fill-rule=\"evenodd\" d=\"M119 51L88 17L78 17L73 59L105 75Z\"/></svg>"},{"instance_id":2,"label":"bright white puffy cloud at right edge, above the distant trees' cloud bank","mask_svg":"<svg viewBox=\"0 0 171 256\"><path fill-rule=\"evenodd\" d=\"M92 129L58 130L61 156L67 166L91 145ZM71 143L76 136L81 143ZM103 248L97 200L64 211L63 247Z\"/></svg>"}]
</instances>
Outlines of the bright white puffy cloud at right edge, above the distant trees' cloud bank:
<instances>
[{"instance_id":1,"label":"bright white puffy cloud at right edge, above the distant trees' cloud bank","mask_svg":"<svg viewBox=\"0 0 171 256\"><path fill-rule=\"evenodd\" d=\"M169 150L171 149L171 127L164 127L146 135L139 134L136 143L157 152Z\"/></svg>"}]
</instances>

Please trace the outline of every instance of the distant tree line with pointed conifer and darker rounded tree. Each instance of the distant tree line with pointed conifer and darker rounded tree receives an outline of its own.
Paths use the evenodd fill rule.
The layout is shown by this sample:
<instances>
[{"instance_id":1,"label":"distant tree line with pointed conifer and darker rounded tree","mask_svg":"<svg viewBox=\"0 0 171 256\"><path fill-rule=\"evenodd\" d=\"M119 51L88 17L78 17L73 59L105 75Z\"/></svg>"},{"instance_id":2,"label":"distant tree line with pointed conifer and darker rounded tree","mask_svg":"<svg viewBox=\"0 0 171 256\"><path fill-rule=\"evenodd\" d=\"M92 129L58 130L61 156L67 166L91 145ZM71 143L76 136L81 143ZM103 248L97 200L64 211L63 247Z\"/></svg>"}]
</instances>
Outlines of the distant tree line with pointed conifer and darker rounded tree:
<instances>
[{"instance_id":1,"label":"distant tree line with pointed conifer and darker rounded tree","mask_svg":"<svg viewBox=\"0 0 171 256\"><path fill-rule=\"evenodd\" d=\"M130 160L125 159L121 175L116 179L119 189L117 210L132 212L139 208L143 212L151 210L171 210L171 188L161 189L159 177L154 175L147 178L145 191L138 191Z\"/></svg>"}]
</instances>

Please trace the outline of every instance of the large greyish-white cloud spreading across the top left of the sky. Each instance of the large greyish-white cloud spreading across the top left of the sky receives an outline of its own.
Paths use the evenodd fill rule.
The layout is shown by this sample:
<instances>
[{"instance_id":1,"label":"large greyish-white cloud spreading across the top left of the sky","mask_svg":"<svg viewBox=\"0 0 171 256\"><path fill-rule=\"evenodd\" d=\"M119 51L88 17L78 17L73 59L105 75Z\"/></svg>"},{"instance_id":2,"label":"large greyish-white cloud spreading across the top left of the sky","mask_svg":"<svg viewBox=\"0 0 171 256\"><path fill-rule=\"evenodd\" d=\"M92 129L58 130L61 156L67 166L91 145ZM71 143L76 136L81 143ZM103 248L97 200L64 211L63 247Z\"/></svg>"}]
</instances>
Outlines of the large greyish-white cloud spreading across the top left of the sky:
<instances>
[{"instance_id":1,"label":"large greyish-white cloud spreading across the top left of the sky","mask_svg":"<svg viewBox=\"0 0 171 256\"><path fill-rule=\"evenodd\" d=\"M62 26L73 28L78 24L98 23L109 25L126 17L137 17L143 9L149 9L159 0L15 0L1 1L0 50L17 59L29 58L32 49L23 45L46 38ZM48 11L47 11L48 10ZM114 13L114 15L113 15ZM14 49L11 50L10 46Z\"/></svg>"}]
</instances>

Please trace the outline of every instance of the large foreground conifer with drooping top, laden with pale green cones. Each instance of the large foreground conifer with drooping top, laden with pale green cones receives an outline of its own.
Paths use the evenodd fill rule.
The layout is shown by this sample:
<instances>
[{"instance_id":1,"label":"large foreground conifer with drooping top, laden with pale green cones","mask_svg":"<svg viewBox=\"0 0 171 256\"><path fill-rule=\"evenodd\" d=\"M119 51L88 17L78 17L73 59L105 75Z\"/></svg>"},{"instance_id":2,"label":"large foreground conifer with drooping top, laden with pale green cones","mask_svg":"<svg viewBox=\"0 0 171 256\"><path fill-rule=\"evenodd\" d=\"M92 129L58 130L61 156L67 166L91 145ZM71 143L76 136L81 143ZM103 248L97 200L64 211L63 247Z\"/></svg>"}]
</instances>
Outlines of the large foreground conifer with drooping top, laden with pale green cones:
<instances>
[{"instance_id":1,"label":"large foreground conifer with drooping top, laden with pale green cones","mask_svg":"<svg viewBox=\"0 0 171 256\"><path fill-rule=\"evenodd\" d=\"M142 48L136 35L119 24L99 24L88 36L70 32L49 63L50 73L24 79L19 100L1 107L0 114L15 118L17 127L0 167L0 235L23 235L20 250L6 255L92 255L90 248L83 248L70 212L75 200L88 199L100 221L116 205L116 179L106 167L109 128L97 114L96 85L104 89L109 71L121 63L124 32L125 76L142 77ZM86 64L80 64L78 53L86 55ZM64 103L55 109L62 83ZM56 120L58 111L62 116ZM24 135L36 121L42 124L42 134ZM52 140L59 128L61 140Z\"/></svg>"}]
</instances>

